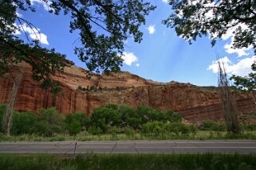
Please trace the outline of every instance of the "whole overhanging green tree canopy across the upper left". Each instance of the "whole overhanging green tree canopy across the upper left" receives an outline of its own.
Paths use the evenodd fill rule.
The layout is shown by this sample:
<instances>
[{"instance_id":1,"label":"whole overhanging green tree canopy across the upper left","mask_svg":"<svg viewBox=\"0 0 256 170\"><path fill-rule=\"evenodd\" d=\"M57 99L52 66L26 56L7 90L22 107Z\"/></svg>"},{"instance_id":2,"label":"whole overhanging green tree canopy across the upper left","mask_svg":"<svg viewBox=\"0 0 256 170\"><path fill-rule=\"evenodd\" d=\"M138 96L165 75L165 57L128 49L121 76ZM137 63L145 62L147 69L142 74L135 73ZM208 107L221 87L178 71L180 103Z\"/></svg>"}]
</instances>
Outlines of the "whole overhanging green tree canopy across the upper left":
<instances>
[{"instance_id":1,"label":"whole overhanging green tree canopy across the upper left","mask_svg":"<svg viewBox=\"0 0 256 170\"><path fill-rule=\"evenodd\" d=\"M145 24L144 17L155 9L144 0L41 1L49 4L50 13L71 16L70 33L77 30L81 41L81 46L75 47L74 52L90 71L96 72L120 70L124 41L133 37L140 43L143 36L140 25ZM10 71L10 65L26 61L33 67L34 79L42 81L44 86L51 85L49 75L63 70L70 63L64 55L54 52L54 49L41 48L38 41L31 41L27 35L27 44L16 37L14 33L18 26L15 21L36 29L26 18L18 17L17 10L36 12L30 0L0 1L0 74Z\"/></svg>"}]
</instances>

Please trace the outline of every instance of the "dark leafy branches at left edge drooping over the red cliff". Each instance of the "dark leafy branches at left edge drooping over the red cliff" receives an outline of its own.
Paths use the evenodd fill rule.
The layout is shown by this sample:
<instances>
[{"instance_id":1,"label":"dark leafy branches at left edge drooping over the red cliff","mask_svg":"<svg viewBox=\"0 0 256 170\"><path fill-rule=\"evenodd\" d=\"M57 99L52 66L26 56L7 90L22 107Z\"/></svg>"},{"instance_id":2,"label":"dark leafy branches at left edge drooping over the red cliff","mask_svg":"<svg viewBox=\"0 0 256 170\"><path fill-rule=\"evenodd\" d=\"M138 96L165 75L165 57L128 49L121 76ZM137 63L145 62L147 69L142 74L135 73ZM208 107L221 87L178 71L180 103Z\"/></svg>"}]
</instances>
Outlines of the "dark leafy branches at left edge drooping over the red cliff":
<instances>
[{"instance_id":1,"label":"dark leafy branches at left edge drooping over the red cliff","mask_svg":"<svg viewBox=\"0 0 256 170\"><path fill-rule=\"evenodd\" d=\"M50 75L63 71L65 66L72 63L54 49L41 48L38 41L30 41L27 35L27 43L15 36L14 33L18 30L15 21L20 24L25 22L33 27L29 21L17 16L17 9L26 10L23 2L0 1L0 76L6 72L14 74L14 71L17 71L15 64L23 61L31 65L33 79L40 82L42 87L52 87L52 92L57 93L59 88L57 83L50 79Z\"/></svg>"}]
</instances>

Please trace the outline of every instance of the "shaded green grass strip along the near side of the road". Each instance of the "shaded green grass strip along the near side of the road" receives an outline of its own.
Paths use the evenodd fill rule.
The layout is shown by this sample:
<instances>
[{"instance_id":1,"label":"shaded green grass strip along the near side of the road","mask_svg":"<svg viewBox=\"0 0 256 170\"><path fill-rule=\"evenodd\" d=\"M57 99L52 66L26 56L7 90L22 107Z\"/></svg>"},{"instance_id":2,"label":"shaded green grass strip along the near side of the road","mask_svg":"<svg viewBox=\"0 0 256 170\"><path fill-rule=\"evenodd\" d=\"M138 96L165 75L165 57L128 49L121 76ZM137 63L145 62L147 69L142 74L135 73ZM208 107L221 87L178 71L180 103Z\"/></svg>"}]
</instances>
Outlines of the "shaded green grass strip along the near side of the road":
<instances>
[{"instance_id":1,"label":"shaded green grass strip along the near side of the road","mask_svg":"<svg viewBox=\"0 0 256 170\"><path fill-rule=\"evenodd\" d=\"M1 154L0 169L239 169L256 168L255 154Z\"/></svg>"}]
</instances>

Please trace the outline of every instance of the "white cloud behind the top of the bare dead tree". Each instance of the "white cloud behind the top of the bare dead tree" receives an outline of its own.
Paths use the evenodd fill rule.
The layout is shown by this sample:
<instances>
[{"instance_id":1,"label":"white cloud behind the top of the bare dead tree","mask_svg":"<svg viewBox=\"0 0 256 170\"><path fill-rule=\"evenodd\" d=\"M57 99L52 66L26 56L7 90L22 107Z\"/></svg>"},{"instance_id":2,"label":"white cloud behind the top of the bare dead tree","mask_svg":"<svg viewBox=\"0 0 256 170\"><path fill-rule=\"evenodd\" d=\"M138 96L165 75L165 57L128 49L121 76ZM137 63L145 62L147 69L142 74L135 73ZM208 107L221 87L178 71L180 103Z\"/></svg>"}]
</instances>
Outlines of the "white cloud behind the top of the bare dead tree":
<instances>
[{"instance_id":1,"label":"white cloud behind the top of the bare dead tree","mask_svg":"<svg viewBox=\"0 0 256 170\"><path fill-rule=\"evenodd\" d=\"M223 61L227 74L245 76L252 71L250 67L254 60L256 60L256 56L239 60L237 64L233 64L226 56L220 60ZM218 62L216 60L213 61L207 70L218 73Z\"/></svg>"}]
</instances>

